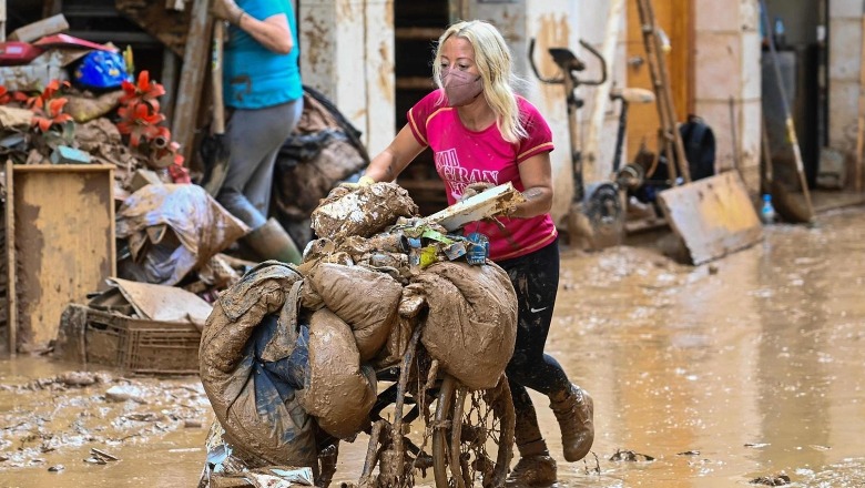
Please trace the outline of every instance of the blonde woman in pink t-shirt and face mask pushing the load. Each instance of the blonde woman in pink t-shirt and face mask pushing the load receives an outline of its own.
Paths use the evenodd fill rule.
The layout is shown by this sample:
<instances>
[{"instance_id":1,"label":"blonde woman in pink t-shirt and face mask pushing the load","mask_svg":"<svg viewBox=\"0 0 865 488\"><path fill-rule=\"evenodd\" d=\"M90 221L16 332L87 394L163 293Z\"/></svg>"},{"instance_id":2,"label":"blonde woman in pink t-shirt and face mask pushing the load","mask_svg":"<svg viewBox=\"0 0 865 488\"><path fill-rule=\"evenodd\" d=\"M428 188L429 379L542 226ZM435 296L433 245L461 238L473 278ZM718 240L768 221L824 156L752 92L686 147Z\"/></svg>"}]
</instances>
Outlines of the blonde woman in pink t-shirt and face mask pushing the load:
<instances>
[{"instance_id":1,"label":"blonde woman in pink t-shirt and face mask pushing the load","mask_svg":"<svg viewBox=\"0 0 865 488\"><path fill-rule=\"evenodd\" d=\"M454 204L478 185L511 182L526 202L505 228L470 224L489 238L489 257L508 272L519 301L517 345L507 374L517 409L520 460L512 481L556 481L527 387L550 398L564 459L582 459L594 439L592 399L543 353L559 283L558 233L550 217L552 134L538 110L511 88L511 55L501 33L482 21L459 22L441 35L432 75L439 89L408 112L408 123L373 159L359 184L393 181L426 148Z\"/></svg>"}]
</instances>

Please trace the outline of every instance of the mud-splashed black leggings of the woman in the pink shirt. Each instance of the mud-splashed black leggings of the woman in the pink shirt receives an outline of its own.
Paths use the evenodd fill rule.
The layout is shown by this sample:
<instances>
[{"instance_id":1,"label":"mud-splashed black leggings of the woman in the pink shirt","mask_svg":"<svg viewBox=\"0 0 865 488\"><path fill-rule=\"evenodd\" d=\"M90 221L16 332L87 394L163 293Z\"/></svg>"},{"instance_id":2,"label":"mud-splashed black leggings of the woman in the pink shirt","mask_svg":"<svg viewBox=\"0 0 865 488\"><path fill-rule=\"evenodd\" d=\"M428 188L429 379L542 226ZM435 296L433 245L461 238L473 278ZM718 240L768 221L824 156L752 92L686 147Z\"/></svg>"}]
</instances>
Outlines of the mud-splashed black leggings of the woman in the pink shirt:
<instances>
[{"instance_id":1,"label":"mud-splashed black leggings of the woman in the pink shirt","mask_svg":"<svg viewBox=\"0 0 865 488\"><path fill-rule=\"evenodd\" d=\"M526 388L550 396L570 387L561 365L543 353L559 287L559 242L557 240L531 254L497 264L508 272L517 291L517 344L506 372L517 413L519 444L520 440L537 440L520 439L519 427L522 425L540 438L535 406Z\"/></svg>"}]
</instances>

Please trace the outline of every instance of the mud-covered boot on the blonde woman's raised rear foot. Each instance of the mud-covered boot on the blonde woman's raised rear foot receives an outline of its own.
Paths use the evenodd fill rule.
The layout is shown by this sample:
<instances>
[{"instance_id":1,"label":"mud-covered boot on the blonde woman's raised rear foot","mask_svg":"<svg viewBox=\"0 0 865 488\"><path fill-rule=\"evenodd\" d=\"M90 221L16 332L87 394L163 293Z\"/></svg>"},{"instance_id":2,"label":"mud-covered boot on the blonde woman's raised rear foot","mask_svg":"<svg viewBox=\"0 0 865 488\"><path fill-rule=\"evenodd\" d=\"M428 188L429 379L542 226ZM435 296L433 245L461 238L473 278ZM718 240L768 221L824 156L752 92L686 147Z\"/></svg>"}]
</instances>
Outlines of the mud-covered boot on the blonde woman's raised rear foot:
<instances>
[{"instance_id":1,"label":"mud-covered boot on the blonde woman's raised rear foot","mask_svg":"<svg viewBox=\"0 0 865 488\"><path fill-rule=\"evenodd\" d=\"M577 385L563 394L550 397L550 408L561 428L564 460L579 461L589 454L594 441L594 403L588 392Z\"/></svg>"}]
</instances>

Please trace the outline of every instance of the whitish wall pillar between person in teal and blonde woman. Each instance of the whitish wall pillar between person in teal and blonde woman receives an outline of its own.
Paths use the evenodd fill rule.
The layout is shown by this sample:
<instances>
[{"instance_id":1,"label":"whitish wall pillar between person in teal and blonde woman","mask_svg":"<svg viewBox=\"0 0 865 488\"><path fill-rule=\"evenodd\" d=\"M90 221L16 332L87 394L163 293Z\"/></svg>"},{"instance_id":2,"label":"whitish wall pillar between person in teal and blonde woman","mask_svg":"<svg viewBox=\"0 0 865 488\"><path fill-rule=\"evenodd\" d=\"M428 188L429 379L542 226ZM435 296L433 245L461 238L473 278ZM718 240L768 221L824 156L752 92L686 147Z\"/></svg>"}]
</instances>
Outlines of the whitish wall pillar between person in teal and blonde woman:
<instances>
[{"instance_id":1,"label":"whitish wall pillar between person in teal and blonde woman","mask_svg":"<svg viewBox=\"0 0 865 488\"><path fill-rule=\"evenodd\" d=\"M393 0L299 3L304 83L330 99L377 154L395 135Z\"/></svg>"}]
</instances>

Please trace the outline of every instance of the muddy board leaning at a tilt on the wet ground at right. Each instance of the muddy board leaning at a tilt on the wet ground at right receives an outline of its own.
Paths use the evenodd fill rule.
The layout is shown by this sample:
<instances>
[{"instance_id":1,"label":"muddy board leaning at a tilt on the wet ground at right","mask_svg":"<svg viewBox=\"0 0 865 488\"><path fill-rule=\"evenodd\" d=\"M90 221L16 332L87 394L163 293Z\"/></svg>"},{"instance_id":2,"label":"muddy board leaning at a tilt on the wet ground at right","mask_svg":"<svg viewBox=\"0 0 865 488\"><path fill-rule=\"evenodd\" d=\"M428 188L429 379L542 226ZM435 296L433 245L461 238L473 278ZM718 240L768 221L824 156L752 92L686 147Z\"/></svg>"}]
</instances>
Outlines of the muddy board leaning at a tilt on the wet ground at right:
<instances>
[{"instance_id":1,"label":"muddy board leaning at a tilt on the wet ground at right","mask_svg":"<svg viewBox=\"0 0 865 488\"><path fill-rule=\"evenodd\" d=\"M658 200L694 264L723 257L763 238L763 225L736 172L664 190Z\"/></svg>"}]
</instances>

